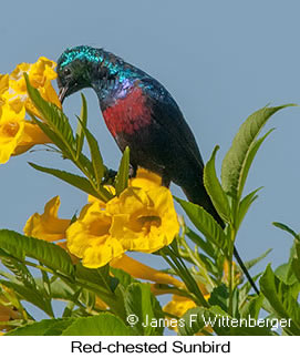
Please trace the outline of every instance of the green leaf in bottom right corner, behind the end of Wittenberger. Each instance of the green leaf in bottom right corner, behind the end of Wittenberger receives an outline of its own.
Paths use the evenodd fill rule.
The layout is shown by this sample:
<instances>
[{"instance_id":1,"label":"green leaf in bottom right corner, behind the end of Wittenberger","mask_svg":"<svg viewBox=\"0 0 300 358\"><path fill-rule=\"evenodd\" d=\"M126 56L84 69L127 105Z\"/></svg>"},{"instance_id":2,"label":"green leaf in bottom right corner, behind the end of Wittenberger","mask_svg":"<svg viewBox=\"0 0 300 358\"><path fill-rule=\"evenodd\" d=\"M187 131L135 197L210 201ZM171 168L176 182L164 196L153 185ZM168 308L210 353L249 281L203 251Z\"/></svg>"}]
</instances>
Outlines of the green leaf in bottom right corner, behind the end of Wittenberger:
<instances>
[{"instance_id":1,"label":"green leaf in bottom right corner, behind the end of Wittenberger","mask_svg":"<svg viewBox=\"0 0 300 358\"><path fill-rule=\"evenodd\" d=\"M287 319L290 327L282 327L289 335L300 335L300 306L293 297L292 286L286 285L272 272L270 265L267 266L259 280L262 294L268 299L273 314L279 319Z\"/></svg>"}]
</instances>

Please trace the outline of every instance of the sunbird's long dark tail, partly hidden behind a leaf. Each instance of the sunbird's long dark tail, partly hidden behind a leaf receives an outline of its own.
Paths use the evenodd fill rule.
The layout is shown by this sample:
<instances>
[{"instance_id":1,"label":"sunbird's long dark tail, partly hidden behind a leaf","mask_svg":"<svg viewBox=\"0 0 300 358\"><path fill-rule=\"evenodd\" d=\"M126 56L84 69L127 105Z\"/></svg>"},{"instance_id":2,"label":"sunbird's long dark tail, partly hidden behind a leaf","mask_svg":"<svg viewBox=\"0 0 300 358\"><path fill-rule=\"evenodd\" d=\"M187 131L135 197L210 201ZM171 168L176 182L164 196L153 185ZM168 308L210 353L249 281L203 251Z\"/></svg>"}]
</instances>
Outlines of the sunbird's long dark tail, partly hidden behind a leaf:
<instances>
[{"instance_id":1,"label":"sunbird's long dark tail, partly hidden behind a leaf","mask_svg":"<svg viewBox=\"0 0 300 358\"><path fill-rule=\"evenodd\" d=\"M224 224L223 219L220 218L219 214L217 213L217 211L215 209L215 207L210 201L210 197L208 196L208 194L205 191L204 185L201 185L200 188L199 188L199 186L193 187L192 185L187 185L186 187L183 187L183 191L184 191L185 195L187 196L187 198L189 200L189 202L203 206L210 215L213 215L215 217L217 223L223 228L225 227L225 224ZM235 255L240 268L242 269L245 276L249 280L250 285L252 286L254 290L259 295L259 289L257 288L255 282L254 282L252 277L250 276L247 267L245 266L242 259L240 258L236 246L234 247L234 255Z\"/></svg>"}]
</instances>

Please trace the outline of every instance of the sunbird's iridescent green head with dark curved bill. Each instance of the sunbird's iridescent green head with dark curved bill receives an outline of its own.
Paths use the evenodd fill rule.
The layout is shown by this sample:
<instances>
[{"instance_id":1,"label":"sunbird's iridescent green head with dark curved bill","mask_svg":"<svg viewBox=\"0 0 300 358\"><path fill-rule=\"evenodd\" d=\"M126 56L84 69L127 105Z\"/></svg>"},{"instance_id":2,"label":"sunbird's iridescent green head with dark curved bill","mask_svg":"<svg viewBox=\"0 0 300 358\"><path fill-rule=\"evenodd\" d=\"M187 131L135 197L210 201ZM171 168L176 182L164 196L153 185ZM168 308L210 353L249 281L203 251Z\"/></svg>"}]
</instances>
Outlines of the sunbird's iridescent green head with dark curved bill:
<instances>
[{"instance_id":1,"label":"sunbird's iridescent green head with dark curved bill","mask_svg":"<svg viewBox=\"0 0 300 358\"><path fill-rule=\"evenodd\" d=\"M87 45L66 49L58 60L60 100L91 86L91 65L101 62L101 50Z\"/></svg>"}]
</instances>

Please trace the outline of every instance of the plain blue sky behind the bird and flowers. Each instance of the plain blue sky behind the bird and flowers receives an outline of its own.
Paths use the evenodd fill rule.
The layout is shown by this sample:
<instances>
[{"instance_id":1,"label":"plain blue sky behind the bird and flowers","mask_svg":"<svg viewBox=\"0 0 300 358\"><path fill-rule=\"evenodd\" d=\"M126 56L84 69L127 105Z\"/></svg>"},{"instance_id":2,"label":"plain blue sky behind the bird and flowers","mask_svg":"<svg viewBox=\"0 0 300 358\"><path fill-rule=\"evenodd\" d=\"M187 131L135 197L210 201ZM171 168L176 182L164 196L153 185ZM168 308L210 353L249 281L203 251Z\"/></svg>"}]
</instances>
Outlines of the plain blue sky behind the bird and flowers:
<instances>
[{"instance_id":1,"label":"plain blue sky behind the bird and flowers","mask_svg":"<svg viewBox=\"0 0 300 358\"><path fill-rule=\"evenodd\" d=\"M189 123L203 157L220 145L217 167L242 121L270 103L300 102L300 4L298 1L6 1L1 6L0 73L40 55L56 60L77 44L104 47L158 79L174 95ZM89 125L99 139L106 165L121 153L105 127L95 94L84 90ZM72 121L80 94L64 110ZM273 252L265 259L283 263L291 239L273 221L300 229L299 108L276 114L276 127L258 153L246 192L263 186L240 229L237 247L244 259ZM27 218L61 196L61 217L71 217L86 196L35 172L27 162L72 170L66 161L39 151L0 166L0 227L22 231ZM173 192L184 197L177 188ZM155 257L143 256L154 267Z\"/></svg>"}]
</instances>

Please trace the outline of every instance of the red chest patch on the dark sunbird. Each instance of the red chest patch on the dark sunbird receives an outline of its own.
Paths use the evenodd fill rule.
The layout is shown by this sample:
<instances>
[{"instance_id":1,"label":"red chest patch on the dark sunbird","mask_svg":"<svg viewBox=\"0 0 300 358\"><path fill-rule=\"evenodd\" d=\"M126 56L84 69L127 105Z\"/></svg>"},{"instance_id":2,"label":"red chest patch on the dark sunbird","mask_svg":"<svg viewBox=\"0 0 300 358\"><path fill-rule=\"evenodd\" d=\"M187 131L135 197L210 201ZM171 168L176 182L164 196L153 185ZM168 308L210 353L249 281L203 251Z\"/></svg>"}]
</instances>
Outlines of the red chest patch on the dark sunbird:
<instances>
[{"instance_id":1,"label":"red chest patch on the dark sunbird","mask_svg":"<svg viewBox=\"0 0 300 358\"><path fill-rule=\"evenodd\" d=\"M123 132L133 134L151 123L151 110L141 88L135 88L124 99L118 99L113 106L103 111L104 121L115 136Z\"/></svg>"}]
</instances>

